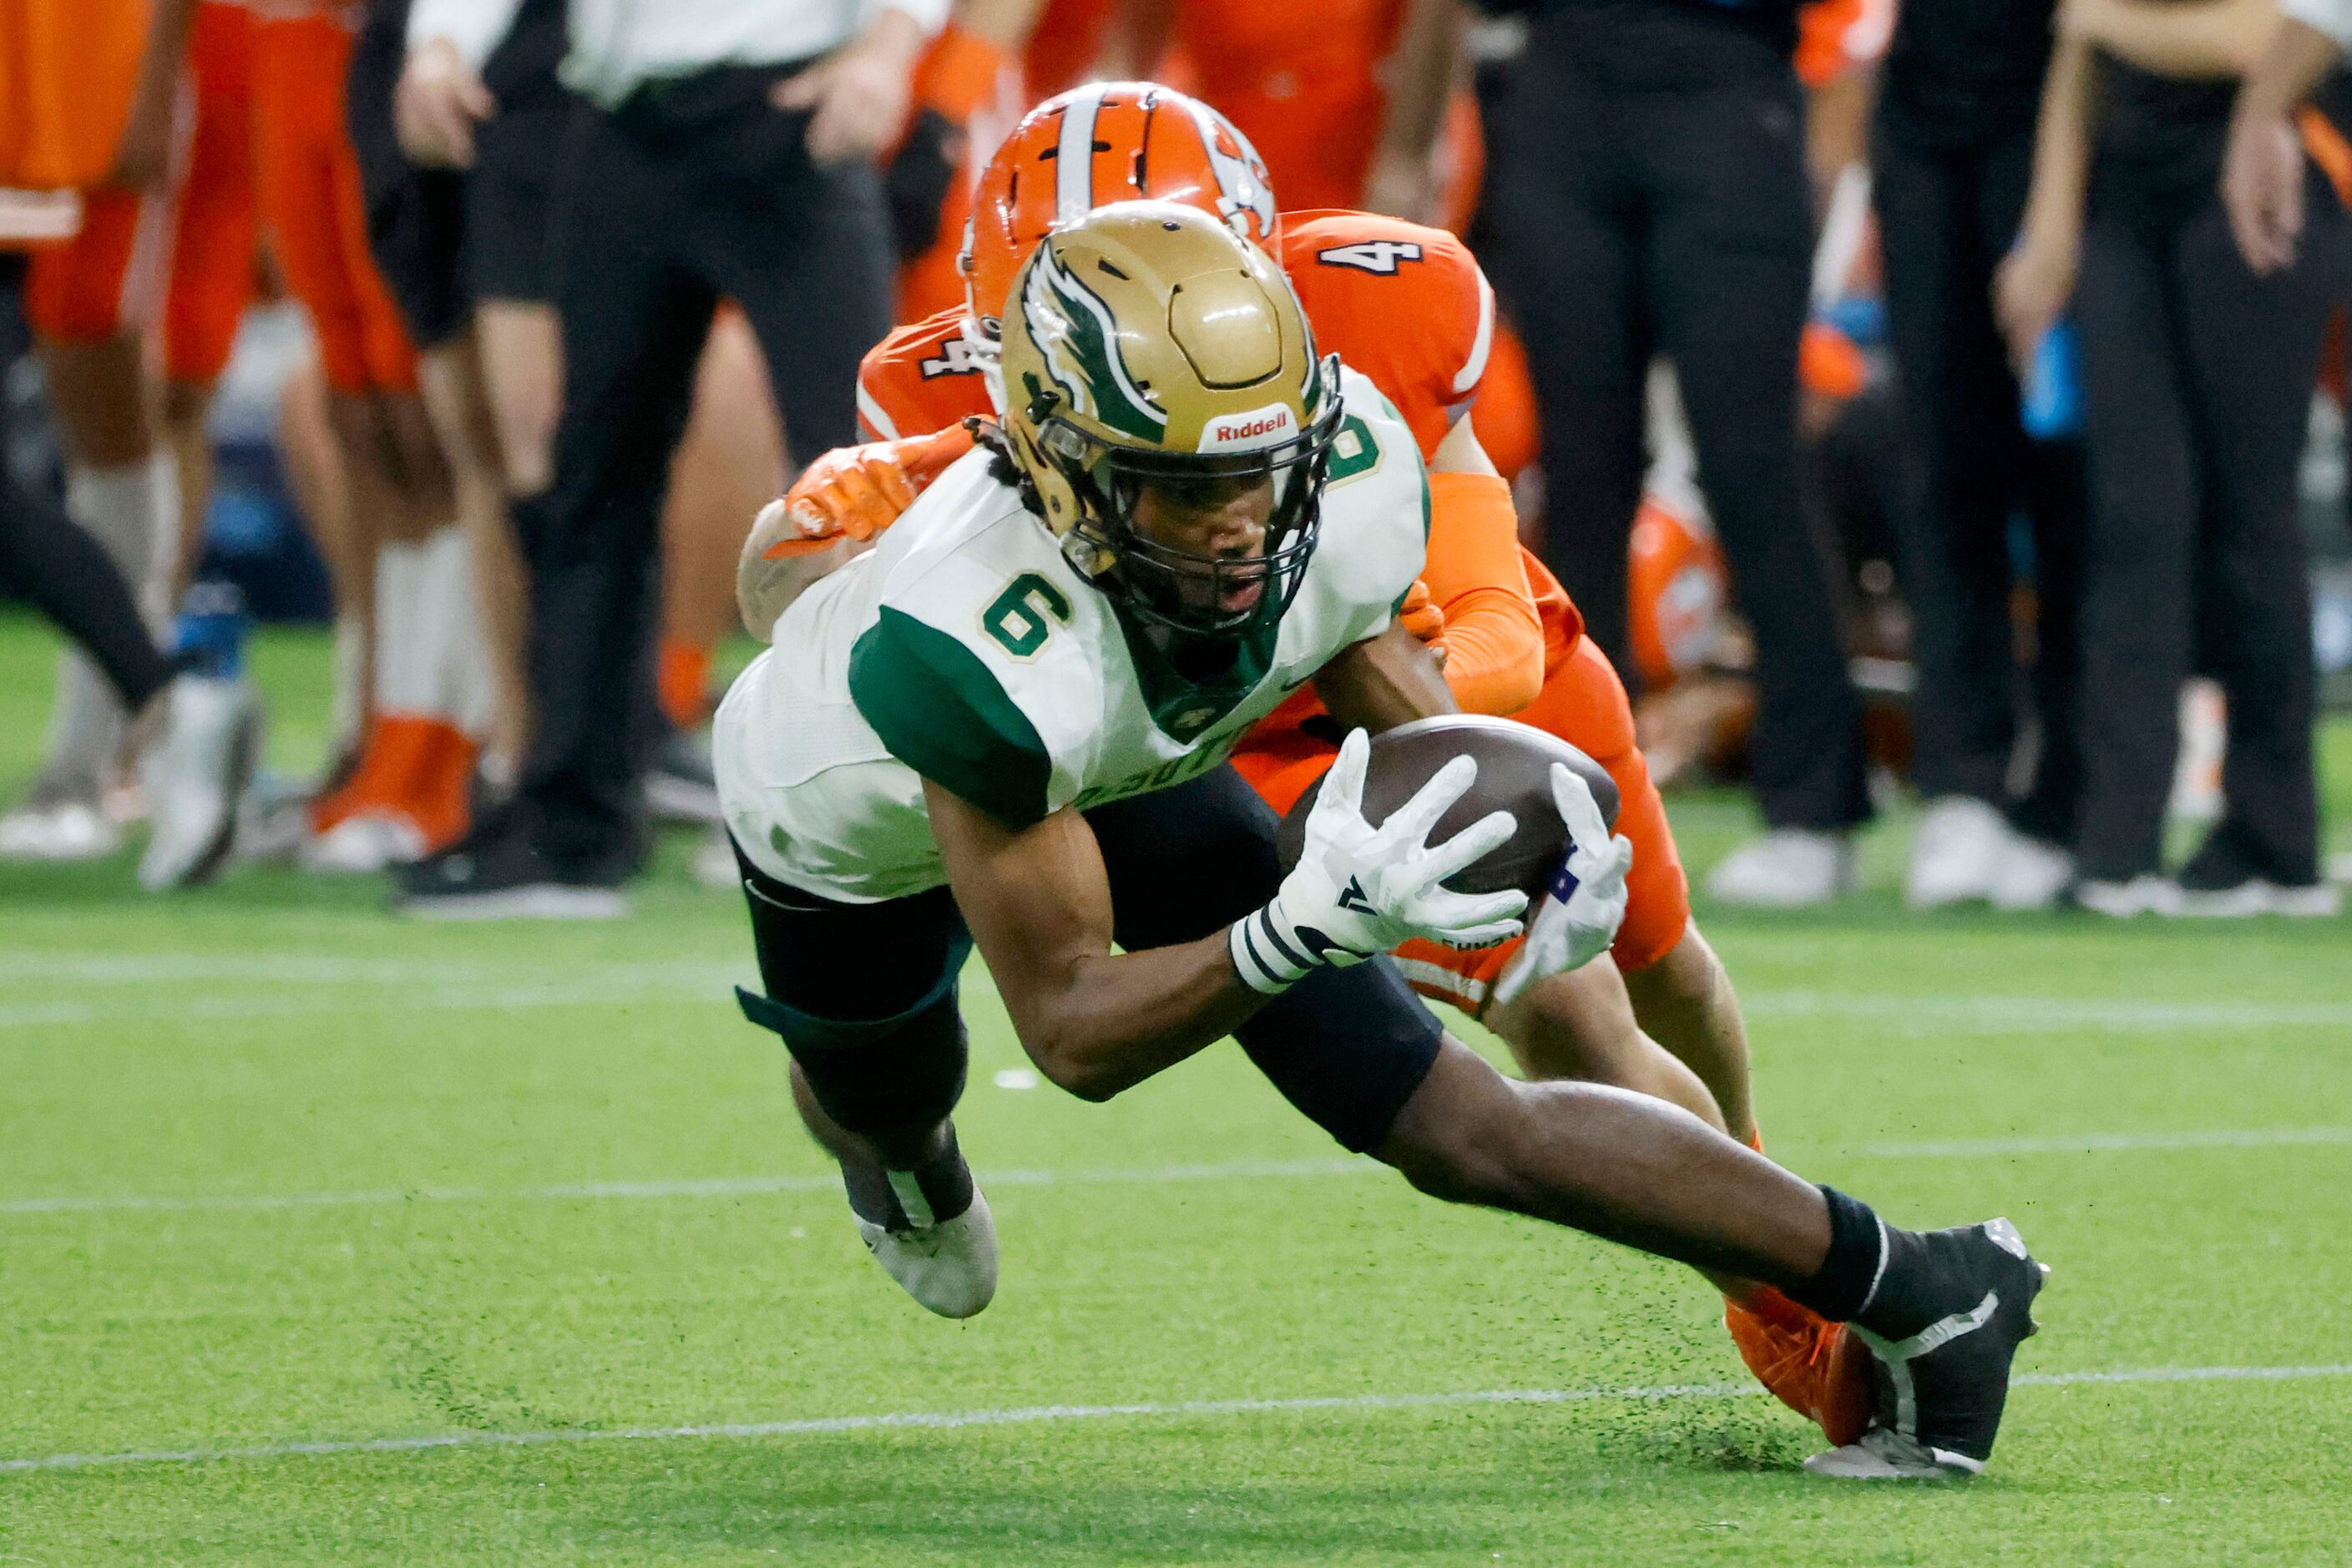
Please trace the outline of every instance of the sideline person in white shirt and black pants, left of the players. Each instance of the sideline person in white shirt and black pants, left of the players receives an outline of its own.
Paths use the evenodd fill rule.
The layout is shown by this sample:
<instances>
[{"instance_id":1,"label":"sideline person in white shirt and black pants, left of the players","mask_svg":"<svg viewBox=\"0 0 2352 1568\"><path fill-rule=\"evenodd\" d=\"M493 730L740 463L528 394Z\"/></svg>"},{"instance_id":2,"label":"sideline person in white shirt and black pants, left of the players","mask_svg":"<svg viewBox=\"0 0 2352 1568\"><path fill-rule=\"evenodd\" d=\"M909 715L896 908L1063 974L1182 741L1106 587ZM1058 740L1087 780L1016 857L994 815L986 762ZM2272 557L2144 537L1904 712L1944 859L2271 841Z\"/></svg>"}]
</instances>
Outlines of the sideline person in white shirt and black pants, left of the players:
<instances>
[{"instance_id":1,"label":"sideline person in white shirt and black pants, left of the players","mask_svg":"<svg viewBox=\"0 0 2352 1568\"><path fill-rule=\"evenodd\" d=\"M419 0L402 96L461 162L517 0ZM402 875L447 917L614 917L644 856L659 515L717 301L741 303L802 451L856 440L889 329L875 155L946 0L569 0L588 99L555 169L564 390L553 484L515 503L536 733L508 809ZM414 150L414 148L412 148Z\"/></svg>"}]
</instances>

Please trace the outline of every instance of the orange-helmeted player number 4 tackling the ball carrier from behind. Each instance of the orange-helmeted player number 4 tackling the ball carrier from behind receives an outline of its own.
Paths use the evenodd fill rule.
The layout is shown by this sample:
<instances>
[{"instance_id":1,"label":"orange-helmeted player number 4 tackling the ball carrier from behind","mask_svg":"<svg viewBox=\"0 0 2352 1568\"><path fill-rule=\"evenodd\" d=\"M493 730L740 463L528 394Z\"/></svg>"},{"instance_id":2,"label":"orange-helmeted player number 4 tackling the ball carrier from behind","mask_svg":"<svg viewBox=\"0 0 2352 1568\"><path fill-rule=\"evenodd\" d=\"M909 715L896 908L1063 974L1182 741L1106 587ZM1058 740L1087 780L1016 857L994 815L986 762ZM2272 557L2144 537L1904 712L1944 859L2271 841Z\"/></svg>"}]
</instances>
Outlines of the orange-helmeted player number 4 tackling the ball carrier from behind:
<instances>
[{"instance_id":1,"label":"orange-helmeted player number 4 tackling the ball carrier from behind","mask_svg":"<svg viewBox=\"0 0 2352 1568\"><path fill-rule=\"evenodd\" d=\"M797 588L861 550L969 449L960 421L1004 402L993 386L1000 322L988 301L1004 299L1018 263L1056 223L1127 197L1200 205L1282 259L1319 348L1336 348L1381 386L1430 463L1418 623L1442 649L1456 698L1519 712L1583 748L1618 783L1618 832L1635 856L1616 964L1588 964L1517 994L1522 943L1545 940L1538 914L1536 936L1522 943L1468 954L1409 945L1399 969L1423 994L1484 1018L1536 1077L1639 1088L1755 1140L1738 1004L1691 924L1625 691L1583 639L1573 604L1519 550L1510 491L1468 418L1491 348L1491 289L1442 230L1355 212L1277 214L1249 141L1204 103L1155 85L1098 85L1023 120L981 181L967 308L898 329L866 357L858 411L880 444L821 458L762 512L739 581L746 623L764 635ZM1329 722L1301 696L1242 743L1235 766L1287 809L1329 766L1334 745ZM1724 1284L1733 1338L1766 1387L1820 1420L1832 1441L1851 1441L1867 1413L1865 1361L1851 1338L1773 1291Z\"/></svg>"}]
</instances>

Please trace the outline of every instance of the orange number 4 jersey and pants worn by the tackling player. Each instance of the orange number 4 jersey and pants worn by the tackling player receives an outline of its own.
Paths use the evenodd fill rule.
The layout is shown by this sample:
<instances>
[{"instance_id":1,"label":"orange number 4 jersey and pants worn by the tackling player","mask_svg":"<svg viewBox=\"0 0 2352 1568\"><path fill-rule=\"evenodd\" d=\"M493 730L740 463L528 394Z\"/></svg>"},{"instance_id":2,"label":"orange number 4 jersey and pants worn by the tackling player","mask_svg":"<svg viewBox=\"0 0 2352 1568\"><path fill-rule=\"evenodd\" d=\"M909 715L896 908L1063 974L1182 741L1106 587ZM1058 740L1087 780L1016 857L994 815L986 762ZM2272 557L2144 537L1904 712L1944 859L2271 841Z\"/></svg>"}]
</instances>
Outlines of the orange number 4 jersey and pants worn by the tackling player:
<instances>
[{"instance_id":1,"label":"orange number 4 jersey and pants worn by the tackling player","mask_svg":"<svg viewBox=\"0 0 2352 1568\"><path fill-rule=\"evenodd\" d=\"M1319 353L1362 371L1411 425L1423 458L1468 411L1494 341L1494 292L1454 235L1359 212L1282 219L1282 266L1298 292ZM964 336L964 313L943 310L901 327L858 367L858 418L873 440L943 430L993 414L983 360ZM1437 475L1446 480L1449 475ZM1583 637L1583 618L1538 559L1510 543L1475 562L1489 581L1446 581L1458 552L1432 522L1428 585L1439 604L1458 595L1534 599L1541 661L1517 717L1564 736L1604 769L1623 799L1618 832L1632 839L1625 926L1611 950L1621 969L1646 969L1682 940L1691 919L1682 856L1665 806L1635 745L1632 708L1609 661ZM1510 581L1491 581L1501 571ZM1456 670L1449 663L1449 679ZM1526 698L1534 698L1526 705ZM1312 691L1270 712L1232 764L1277 811L1287 811L1331 764L1336 731ZM1423 994L1479 1009L1515 943L1477 952L1411 945L1399 952Z\"/></svg>"}]
</instances>

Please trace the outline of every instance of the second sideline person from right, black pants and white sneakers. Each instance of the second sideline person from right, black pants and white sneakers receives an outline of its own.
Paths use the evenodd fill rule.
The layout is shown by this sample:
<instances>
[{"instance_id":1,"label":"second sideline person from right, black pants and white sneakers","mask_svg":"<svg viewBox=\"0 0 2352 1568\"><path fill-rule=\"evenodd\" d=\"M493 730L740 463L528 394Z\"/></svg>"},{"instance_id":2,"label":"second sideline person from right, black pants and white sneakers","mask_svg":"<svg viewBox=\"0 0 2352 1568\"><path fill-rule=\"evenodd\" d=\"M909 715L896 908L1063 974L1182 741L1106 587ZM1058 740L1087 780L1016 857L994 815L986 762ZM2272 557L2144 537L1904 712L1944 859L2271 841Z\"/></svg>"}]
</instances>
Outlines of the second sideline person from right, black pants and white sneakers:
<instances>
[{"instance_id":1,"label":"second sideline person from right, black pants and white sneakers","mask_svg":"<svg viewBox=\"0 0 2352 1568\"><path fill-rule=\"evenodd\" d=\"M1886 268L1915 491L1896 508L1919 686L1912 778L1926 816L1905 896L2053 903L2072 879L2082 788L2074 693L2084 477L2077 440L2025 433L1992 317L1992 275L2018 237L2053 0L1905 5L1879 87L1872 195ZM2025 715L2011 656L2009 520L2032 527L2032 788L2013 795Z\"/></svg>"}]
</instances>

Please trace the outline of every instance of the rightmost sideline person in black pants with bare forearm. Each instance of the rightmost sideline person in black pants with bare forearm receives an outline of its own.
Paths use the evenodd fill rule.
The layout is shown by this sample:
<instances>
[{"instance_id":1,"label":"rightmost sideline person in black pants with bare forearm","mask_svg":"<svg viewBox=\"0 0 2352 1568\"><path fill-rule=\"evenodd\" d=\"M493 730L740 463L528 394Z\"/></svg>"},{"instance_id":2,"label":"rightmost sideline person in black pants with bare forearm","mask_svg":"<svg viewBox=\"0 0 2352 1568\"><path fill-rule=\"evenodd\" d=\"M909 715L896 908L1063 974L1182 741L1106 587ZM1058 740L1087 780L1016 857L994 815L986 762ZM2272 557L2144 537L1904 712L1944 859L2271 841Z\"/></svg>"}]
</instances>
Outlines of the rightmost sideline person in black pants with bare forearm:
<instances>
[{"instance_id":1,"label":"rightmost sideline person in black pants with bare forearm","mask_svg":"<svg viewBox=\"0 0 2352 1568\"><path fill-rule=\"evenodd\" d=\"M2220 200L2274 0L2065 0L1999 313L2023 362L2074 299L2091 552L2074 898L2103 914L2324 914L2312 592L2296 475L2345 214L2310 162L2293 259L2246 266ZM2096 113L2093 113L2096 106ZM2077 282L2079 280L2079 282ZM2230 703L2220 820L2164 877L2180 682Z\"/></svg>"}]
</instances>

